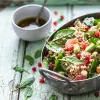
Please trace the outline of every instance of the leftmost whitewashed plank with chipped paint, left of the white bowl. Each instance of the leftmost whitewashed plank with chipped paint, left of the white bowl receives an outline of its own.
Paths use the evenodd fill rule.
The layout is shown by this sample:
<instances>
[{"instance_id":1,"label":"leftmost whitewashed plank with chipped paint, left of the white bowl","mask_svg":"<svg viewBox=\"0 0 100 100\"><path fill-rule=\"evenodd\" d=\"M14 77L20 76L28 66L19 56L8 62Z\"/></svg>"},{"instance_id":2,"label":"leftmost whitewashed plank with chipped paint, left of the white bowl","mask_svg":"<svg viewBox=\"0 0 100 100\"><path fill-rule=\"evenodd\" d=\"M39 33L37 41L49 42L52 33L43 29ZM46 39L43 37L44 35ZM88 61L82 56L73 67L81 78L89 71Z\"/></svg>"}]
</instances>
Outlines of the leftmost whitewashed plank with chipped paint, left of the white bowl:
<instances>
[{"instance_id":1,"label":"leftmost whitewashed plank with chipped paint, left of the white bowl","mask_svg":"<svg viewBox=\"0 0 100 100\"><path fill-rule=\"evenodd\" d=\"M0 12L0 98L1 100L11 99L12 85L10 87L9 82L13 80L15 77L15 72L12 70L12 68L17 63L17 56L19 53L19 38L13 32L11 25L11 15L13 10L14 9L6 8L2 12Z\"/></svg>"}]
</instances>

